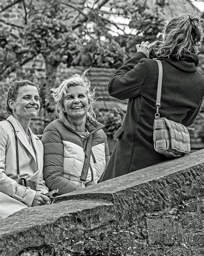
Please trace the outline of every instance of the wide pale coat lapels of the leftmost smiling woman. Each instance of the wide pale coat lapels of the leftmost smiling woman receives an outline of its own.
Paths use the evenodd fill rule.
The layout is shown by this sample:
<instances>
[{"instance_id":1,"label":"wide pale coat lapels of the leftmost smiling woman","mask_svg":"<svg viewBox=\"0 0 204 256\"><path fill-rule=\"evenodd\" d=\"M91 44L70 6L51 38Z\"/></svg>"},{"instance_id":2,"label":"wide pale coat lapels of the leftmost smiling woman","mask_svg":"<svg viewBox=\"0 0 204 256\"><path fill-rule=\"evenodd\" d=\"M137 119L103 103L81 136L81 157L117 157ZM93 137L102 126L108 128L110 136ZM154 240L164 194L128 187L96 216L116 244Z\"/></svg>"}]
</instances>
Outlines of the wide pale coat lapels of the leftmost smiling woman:
<instances>
[{"instance_id":1,"label":"wide pale coat lapels of the leftmost smiling woman","mask_svg":"<svg viewBox=\"0 0 204 256\"><path fill-rule=\"evenodd\" d=\"M35 152L36 152L36 154L35 154L31 145L28 143L28 140L26 138L25 131L23 130L22 125L12 115L9 115L9 117L7 119L10 122L12 122L12 125L14 126L15 131L16 131L17 138L19 139L19 141L21 141L23 146L28 150L28 152L34 158L34 161L37 165L38 160L40 160L39 150L37 148L37 140L39 140L39 138L37 138L37 136L35 136L32 133L31 128L29 127L28 131L29 131L29 134L31 136L31 141L33 143L33 147L34 147ZM13 131L13 128L12 128L12 131Z\"/></svg>"}]
</instances>

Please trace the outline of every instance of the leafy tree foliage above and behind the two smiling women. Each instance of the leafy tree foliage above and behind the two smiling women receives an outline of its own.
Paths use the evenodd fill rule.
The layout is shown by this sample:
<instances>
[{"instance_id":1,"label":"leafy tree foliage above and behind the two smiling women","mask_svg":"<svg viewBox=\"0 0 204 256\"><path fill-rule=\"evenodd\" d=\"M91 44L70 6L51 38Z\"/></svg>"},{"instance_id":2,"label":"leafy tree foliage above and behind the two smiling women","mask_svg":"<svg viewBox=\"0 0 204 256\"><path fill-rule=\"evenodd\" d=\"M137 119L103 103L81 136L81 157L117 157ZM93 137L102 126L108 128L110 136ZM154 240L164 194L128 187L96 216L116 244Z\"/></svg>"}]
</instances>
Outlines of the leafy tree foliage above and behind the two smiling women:
<instances>
[{"instance_id":1,"label":"leafy tree foliage above and behind the two smiling women","mask_svg":"<svg viewBox=\"0 0 204 256\"><path fill-rule=\"evenodd\" d=\"M136 42L143 38L153 41L160 32L161 20L156 14L149 14L146 1L115 3L103 0L91 4L85 0L84 4L76 7L62 0L20 0L8 4L7 8L14 4L21 7L24 23L19 25L0 20L1 78L18 70L37 54L42 54L46 62L56 67L64 62L68 67L93 65L117 68L135 52ZM129 18L130 28L137 29L136 35L124 32L120 35L123 29L102 10L105 4L110 6L113 16ZM5 12L6 8L2 10ZM111 34L113 29L117 30L114 36Z\"/></svg>"}]
</instances>

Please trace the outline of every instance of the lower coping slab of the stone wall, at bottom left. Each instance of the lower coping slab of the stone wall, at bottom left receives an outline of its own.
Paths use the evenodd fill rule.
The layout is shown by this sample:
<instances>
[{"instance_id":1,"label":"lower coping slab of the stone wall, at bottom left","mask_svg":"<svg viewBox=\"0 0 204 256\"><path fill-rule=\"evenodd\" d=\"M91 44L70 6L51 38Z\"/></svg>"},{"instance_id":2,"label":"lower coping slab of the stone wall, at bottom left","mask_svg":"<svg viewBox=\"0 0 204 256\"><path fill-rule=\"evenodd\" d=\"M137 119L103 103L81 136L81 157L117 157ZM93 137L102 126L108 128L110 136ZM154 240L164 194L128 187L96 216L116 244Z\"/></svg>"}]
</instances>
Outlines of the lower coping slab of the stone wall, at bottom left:
<instances>
[{"instance_id":1,"label":"lower coping slab of the stone wall, at bottom left","mask_svg":"<svg viewBox=\"0 0 204 256\"><path fill-rule=\"evenodd\" d=\"M62 239L83 240L85 231L110 226L114 219L113 204L92 200L26 208L0 223L0 255L16 255Z\"/></svg>"}]
</instances>

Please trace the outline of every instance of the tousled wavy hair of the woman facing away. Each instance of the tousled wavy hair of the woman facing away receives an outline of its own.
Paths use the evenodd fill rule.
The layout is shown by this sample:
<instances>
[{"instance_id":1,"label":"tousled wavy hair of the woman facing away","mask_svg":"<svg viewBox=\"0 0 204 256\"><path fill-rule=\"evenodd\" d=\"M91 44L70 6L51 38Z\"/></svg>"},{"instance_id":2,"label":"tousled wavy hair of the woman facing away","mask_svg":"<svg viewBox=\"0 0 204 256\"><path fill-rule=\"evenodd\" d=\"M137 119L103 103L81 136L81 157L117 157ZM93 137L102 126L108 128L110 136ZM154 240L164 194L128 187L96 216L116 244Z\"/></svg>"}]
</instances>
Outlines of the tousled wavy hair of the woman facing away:
<instances>
[{"instance_id":1,"label":"tousled wavy hair of the woman facing away","mask_svg":"<svg viewBox=\"0 0 204 256\"><path fill-rule=\"evenodd\" d=\"M201 19L196 12L184 14L166 22L164 40L155 45L155 56L174 56L185 59L185 54L197 54L203 40Z\"/></svg>"}]
</instances>

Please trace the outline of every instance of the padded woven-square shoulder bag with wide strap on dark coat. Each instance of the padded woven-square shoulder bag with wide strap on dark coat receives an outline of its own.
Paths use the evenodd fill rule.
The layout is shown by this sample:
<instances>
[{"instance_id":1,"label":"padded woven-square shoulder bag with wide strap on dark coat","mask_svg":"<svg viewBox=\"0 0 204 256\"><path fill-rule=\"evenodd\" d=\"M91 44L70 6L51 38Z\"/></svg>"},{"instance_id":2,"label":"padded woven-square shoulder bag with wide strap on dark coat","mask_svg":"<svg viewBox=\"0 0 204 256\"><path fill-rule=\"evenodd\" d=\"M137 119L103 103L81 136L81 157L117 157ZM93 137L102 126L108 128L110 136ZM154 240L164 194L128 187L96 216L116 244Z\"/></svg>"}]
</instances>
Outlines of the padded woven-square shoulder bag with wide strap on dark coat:
<instances>
[{"instance_id":1,"label":"padded woven-square shoulder bag with wide strap on dark coat","mask_svg":"<svg viewBox=\"0 0 204 256\"><path fill-rule=\"evenodd\" d=\"M158 90L157 90L157 112L155 114L153 140L155 150L167 157L181 157L190 154L190 136L187 128L172 120L160 117L161 86L163 69L161 61L156 60L159 67Z\"/></svg>"}]
</instances>

